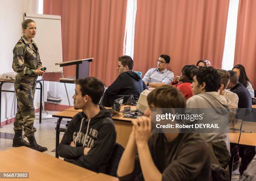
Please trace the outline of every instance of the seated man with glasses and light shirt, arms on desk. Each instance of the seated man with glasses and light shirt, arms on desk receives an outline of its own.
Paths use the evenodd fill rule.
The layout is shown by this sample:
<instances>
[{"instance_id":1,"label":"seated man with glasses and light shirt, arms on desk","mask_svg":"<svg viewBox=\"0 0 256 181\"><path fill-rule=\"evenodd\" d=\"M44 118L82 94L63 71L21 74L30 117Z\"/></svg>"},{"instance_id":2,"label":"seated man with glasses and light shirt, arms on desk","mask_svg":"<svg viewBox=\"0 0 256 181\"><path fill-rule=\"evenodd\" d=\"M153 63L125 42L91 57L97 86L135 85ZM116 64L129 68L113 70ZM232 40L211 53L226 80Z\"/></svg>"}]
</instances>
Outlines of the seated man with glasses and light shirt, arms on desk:
<instances>
[{"instance_id":1,"label":"seated man with glasses and light shirt, arms on desk","mask_svg":"<svg viewBox=\"0 0 256 181\"><path fill-rule=\"evenodd\" d=\"M169 55L161 55L157 60L157 68L149 69L142 80L151 87L169 85L174 79L174 73L167 70L169 63Z\"/></svg>"}]
</instances>

